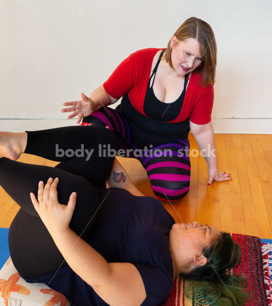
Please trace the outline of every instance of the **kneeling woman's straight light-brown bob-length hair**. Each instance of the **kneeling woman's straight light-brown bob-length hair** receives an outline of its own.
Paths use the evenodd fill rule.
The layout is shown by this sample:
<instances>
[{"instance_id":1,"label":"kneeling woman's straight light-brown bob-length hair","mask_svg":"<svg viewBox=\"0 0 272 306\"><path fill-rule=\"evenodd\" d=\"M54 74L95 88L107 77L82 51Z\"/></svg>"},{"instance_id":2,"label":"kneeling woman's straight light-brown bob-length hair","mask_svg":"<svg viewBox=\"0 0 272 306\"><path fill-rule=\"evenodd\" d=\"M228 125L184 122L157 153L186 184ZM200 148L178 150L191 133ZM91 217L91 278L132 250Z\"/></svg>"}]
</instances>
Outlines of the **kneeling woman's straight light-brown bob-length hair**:
<instances>
[{"instance_id":1,"label":"kneeling woman's straight light-brown bob-length hair","mask_svg":"<svg viewBox=\"0 0 272 306\"><path fill-rule=\"evenodd\" d=\"M193 72L201 72L202 80L200 81L200 84L202 87L207 87L210 84L213 84L215 82L217 47L211 26L204 20L191 17L182 23L173 36L176 36L178 41L182 41L186 38L197 39L200 44L202 63L199 67L193 70ZM172 49L169 41L164 57L170 67L173 68L171 53Z\"/></svg>"}]
</instances>

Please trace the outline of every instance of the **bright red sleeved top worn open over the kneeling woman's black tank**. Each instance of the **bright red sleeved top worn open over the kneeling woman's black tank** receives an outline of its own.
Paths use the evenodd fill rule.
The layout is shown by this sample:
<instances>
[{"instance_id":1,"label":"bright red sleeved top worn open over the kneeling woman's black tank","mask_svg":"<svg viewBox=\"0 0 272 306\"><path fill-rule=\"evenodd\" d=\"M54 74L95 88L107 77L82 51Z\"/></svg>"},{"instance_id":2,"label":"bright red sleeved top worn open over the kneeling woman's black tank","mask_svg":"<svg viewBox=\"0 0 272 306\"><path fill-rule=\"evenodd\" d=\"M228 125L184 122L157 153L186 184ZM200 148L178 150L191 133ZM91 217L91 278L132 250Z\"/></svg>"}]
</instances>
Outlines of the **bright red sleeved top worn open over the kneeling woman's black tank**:
<instances>
[{"instance_id":1,"label":"bright red sleeved top worn open over the kneeling woman's black tank","mask_svg":"<svg viewBox=\"0 0 272 306\"><path fill-rule=\"evenodd\" d=\"M160 49L147 48L132 53L120 63L103 84L106 92L113 98L119 99L128 93L131 105L144 116L146 116L143 111L145 92L153 58L158 50ZM175 120L170 121L171 123L181 122L187 118L195 124L206 124L211 121L213 85L201 88L197 84L200 81L200 73L191 74L181 112Z\"/></svg>"}]
</instances>

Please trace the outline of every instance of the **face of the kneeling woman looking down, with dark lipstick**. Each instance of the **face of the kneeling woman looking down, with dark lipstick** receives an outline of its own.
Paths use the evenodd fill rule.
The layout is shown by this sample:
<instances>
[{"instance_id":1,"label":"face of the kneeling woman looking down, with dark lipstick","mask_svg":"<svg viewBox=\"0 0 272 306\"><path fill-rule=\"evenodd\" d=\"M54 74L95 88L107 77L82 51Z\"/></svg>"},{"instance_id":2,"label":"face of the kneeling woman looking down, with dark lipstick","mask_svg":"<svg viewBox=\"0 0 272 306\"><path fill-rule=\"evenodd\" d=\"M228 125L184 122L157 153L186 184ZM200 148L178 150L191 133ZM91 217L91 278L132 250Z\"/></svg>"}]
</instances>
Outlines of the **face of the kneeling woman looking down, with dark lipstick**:
<instances>
[{"instance_id":1,"label":"face of the kneeling woman looking down, with dark lipstick","mask_svg":"<svg viewBox=\"0 0 272 306\"><path fill-rule=\"evenodd\" d=\"M200 44L196 39L186 38L180 41L172 36L170 46L172 65L178 75L190 73L201 65Z\"/></svg>"}]
</instances>

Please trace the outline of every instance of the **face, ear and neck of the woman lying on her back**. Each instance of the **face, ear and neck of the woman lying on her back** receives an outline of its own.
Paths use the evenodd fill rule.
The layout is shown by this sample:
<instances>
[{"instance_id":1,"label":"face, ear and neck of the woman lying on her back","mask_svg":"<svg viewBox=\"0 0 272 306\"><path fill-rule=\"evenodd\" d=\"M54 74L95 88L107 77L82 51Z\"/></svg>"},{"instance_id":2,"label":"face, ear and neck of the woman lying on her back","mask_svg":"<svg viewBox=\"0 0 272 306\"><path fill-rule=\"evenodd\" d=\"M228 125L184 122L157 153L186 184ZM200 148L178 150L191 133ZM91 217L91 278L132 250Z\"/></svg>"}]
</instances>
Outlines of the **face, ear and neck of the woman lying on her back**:
<instances>
[{"instance_id":1,"label":"face, ear and neck of the woman lying on her back","mask_svg":"<svg viewBox=\"0 0 272 306\"><path fill-rule=\"evenodd\" d=\"M220 239L221 233L209 225L199 222L175 223L169 233L169 245L176 261L178 273L187 273L196 265L205 265L207 259L202 250L209 247L213 239Z\"/></svg>"}]
</instances>

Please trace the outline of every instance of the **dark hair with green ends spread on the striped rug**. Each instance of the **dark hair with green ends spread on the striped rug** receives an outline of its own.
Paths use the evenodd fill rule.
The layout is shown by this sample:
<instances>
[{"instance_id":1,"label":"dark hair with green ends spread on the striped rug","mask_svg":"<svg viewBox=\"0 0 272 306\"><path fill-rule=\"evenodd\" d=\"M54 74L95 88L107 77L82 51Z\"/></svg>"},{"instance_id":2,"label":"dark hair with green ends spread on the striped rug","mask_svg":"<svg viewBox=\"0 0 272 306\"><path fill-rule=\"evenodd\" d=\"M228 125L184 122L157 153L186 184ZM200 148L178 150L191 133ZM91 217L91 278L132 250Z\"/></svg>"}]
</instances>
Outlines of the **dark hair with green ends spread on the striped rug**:
<instances>
[{"instance_id":1,"label":"dark hair with green ends spread on the striped rug","mask_svg":"<svg viewBox=\"0 0 272 306\"><path fill-rule=\"evenodd\" d=\"M232 236L221 232L221 239L213 240L203 249L208 259L204 266L181 274L188 279L185 296L193 298L195 305L237 306L244 305L248 297L248 284L241 275L234 275L241 259L241 248Z\"/></svg>"}]
</instances>

